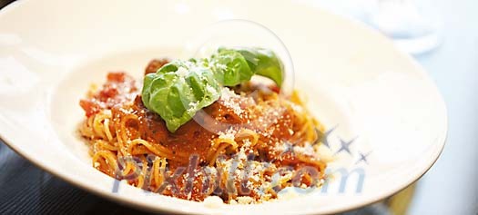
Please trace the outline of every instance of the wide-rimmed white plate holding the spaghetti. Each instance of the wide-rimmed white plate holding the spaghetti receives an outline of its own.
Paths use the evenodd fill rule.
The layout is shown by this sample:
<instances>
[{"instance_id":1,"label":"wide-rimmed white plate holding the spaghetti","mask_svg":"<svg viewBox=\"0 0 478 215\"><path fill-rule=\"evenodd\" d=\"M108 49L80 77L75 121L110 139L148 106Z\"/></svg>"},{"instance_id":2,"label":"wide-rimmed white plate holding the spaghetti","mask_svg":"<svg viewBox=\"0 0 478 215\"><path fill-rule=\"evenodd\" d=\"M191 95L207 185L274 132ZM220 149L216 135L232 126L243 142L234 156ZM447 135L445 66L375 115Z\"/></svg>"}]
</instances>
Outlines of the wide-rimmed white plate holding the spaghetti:
<instances>
[{"instance_id":1,"label":"wide-rimmed white plate holding the spaghetti","mask_svg":"<svg viewBox=\"0 0 478 215\"><path fill-rule=\"evenodd\" d=\"M121 184L91 167L76 138L78 99L108 71L137 76L153 57L180 55L198 30L226 18L268 26L289 48L295 85L341 151L330 169L350 171L345 191L258 205L173 199ZM438 158L446 108L412 58L367 27L301 3L277 1L20 1L0 12L0 136L39 167L76 186L146 210L188 213L332 213L381 200L418 180ZM371 154L368 163L360 152ZM359 162L357 162L359 161ZM362 174L360 174L362 173ZM335 177L337 176L337 177ZM361 183L361 178L363 179ZM361 186L362 185L362 186ZM361 188L361 191L356 191Z\"/></svg>"}]
</instances>

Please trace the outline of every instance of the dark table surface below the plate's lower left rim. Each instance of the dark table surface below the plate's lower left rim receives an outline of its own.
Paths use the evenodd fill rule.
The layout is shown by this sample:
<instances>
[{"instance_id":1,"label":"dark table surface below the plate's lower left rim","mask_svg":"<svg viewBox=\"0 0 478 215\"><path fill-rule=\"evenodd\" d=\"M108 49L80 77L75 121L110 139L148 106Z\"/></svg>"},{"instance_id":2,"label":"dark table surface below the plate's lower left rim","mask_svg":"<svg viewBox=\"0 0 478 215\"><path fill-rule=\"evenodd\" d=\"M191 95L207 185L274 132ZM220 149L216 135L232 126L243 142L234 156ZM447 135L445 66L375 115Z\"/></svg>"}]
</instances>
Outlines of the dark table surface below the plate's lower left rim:
<instances>
[{"instance_id":1,"label":"dark table surface below the plate's lower left rim","mask_svg":"<svg viewBox=\"0 0 478 215\"><path fill-rule=\"evenodd\" d=\"M132 214L36 168L0 142L0 214Z\"/></svg>"}]
</instances>

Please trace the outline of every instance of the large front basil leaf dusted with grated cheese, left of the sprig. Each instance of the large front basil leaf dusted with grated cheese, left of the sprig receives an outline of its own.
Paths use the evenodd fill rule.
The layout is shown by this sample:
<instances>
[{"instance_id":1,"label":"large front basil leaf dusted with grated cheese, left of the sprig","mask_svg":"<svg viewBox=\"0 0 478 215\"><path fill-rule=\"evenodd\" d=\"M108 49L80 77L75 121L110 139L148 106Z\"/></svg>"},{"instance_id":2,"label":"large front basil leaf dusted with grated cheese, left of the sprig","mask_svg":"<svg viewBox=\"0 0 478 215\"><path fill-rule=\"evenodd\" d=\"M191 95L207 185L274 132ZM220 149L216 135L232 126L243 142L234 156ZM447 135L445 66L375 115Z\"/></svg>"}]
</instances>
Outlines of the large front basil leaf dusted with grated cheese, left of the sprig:
<instances>
[{"instance_id":1,"label":"large front basil leaf dusted with grated cheese, left of the sprig","mask_svg":"<svg viewBox=\"0 0 478 215\"><path fill-rule=\"evenodd\" d=\"M145 76L142 100L161 116L169 132L176 132L219 95L219 83L208 67L174 61Z\"/></svg>"}]
</instances>

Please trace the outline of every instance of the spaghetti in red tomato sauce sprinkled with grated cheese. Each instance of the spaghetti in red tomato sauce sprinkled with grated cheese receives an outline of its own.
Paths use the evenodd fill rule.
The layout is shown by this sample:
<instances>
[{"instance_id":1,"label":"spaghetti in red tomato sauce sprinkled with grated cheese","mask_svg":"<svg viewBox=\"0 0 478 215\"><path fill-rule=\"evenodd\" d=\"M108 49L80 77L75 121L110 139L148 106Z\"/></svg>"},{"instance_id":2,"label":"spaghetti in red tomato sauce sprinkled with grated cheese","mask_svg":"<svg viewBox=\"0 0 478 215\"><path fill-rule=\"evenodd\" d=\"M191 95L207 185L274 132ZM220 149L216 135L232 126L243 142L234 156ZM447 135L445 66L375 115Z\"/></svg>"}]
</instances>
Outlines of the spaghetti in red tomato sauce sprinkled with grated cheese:
<instances>
[{"instance_id":1,"label":"spaghetti in red tomato sauce sprinkled with grated cheese","mask_svg":"<svg viewBox=\"0 0 478 215\"><path fill-rule=\"evenodd\" d=\"M146 73L166 63L152 61ZM111 177L181 199L229 203L272 200L286 187L320 186L325 177L315 144L324 128L298 93L283 98L277 87L252 82L224 88L172 133L137 86L126 73L108 73L107 83L80 101L86 120L79 132L93 166Z\"/></svg>"}]
</instances>

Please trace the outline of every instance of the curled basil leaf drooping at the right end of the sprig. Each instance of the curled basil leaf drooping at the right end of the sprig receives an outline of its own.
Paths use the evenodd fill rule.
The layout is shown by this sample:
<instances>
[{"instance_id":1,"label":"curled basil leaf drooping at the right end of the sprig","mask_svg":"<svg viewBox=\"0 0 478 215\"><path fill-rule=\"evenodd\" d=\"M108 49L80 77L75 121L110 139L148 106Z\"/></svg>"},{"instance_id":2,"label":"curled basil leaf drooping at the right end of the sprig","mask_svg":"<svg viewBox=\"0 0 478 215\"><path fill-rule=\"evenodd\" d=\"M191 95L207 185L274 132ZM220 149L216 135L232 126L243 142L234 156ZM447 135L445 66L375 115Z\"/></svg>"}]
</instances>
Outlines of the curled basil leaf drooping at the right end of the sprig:
<instances>
[{"instance_id":1,"label":"curled basil leaf drooping at the right end of the sprig","mask_svg":"<svg viewBox=\"0 0 478 215\"><path fill-rule=\"evenodd\" d=\"M282 84L282 63L274 52L263 48L219 48L219 54L227 52L236 52L242 55L242 58L246 60L253 74L255 73L270 78L279 87Z\"/></svg>"}]
</instances>

